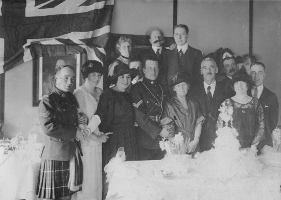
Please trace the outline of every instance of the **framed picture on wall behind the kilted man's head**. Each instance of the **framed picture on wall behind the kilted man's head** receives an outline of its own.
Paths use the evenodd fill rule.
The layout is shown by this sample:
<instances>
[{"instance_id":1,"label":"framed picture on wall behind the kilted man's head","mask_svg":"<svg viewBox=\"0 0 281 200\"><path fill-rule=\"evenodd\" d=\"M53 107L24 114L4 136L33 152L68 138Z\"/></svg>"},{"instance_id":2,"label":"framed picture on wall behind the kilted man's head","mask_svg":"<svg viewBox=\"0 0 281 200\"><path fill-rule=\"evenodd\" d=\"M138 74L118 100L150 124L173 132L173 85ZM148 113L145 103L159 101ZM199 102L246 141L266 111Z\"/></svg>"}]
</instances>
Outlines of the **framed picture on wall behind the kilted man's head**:
<instances>
[{"instance_id":1,"label":"framed picture on wall behind the kilted man's head","mask_svg":"<svg viewBox=\"0 0 281 200\"><path fill-rule=\"evenodd\" d=\"M71 65L76 72L75 85L81 85L81 63L84 62L81 54L39 57L33 62L33 102L32 106L38 106L44 95L49 94L55 85L55 71L61 65ZM76 88L75 87L75 88ZM74 88L74 89L75 89Z\"/></svg>"}]
</instances>

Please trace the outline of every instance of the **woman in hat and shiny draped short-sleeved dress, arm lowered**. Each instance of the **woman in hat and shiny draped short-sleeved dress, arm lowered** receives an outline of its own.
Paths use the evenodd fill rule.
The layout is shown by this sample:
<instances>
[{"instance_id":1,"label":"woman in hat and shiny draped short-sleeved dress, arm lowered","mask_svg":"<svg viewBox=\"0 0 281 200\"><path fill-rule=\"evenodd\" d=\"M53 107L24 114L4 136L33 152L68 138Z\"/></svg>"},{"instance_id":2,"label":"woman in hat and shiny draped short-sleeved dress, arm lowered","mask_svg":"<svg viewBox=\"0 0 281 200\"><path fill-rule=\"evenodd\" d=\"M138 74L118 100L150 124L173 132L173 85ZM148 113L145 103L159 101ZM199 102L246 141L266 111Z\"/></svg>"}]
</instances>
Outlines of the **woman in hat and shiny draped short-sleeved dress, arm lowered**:
<instances>
[{"instance_id":1,"label":"woman in hat and shiny draped short-sleeved dress, arm lowered","mask_svg":"<svg viewBox=\"0 0 281 200\"><path fill-rule=\"evenodd\" d=\"M183 73L177 73L171 78L171 87L176 92L164 107L163 117L175 121L176 132L182 132L184 138L190 139L188 152L199 151L199 138L202 122L205 119L195 100L188 97L190 82ZM198 145L198 146L197 146Z\"/></svg>"}]
</instances>

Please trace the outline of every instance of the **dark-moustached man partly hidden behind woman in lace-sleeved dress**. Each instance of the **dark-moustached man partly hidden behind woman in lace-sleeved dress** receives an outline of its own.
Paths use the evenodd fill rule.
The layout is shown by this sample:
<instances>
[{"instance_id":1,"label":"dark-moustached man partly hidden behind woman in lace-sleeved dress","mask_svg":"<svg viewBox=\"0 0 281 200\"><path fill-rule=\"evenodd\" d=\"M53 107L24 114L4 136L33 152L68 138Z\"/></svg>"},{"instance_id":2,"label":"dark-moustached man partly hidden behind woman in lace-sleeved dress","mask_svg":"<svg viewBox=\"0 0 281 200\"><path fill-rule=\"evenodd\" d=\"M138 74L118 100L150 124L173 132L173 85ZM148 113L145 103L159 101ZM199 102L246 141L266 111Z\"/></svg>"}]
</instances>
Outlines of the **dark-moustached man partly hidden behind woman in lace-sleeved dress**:
<instances>
[{"instance_id":1,"label":"dark-moustached man partly hidden behind woman in lace-sleeved dress","mask_svg":"<svg viewBox=\"0 0 281 200\"><path fill-rule=\"evenodd\" d=\"M235 95L234 90L231 88L232 75L238 71L235 57L225 57L222 65L226 76L220 83L224 86L225 97L230 98Z\"/></svg>"}]
</instances>

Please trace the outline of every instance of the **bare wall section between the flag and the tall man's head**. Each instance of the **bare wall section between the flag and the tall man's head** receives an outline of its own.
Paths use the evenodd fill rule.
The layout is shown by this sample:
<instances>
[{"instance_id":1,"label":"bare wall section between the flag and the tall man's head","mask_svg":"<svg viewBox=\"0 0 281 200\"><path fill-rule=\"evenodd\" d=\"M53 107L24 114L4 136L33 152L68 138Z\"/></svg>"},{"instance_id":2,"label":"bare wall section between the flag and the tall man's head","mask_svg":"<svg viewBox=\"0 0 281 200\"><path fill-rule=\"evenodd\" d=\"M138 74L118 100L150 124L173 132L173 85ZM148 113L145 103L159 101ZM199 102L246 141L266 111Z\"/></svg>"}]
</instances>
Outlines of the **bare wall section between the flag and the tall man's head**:
<instances>
[{"instance_id":1,"label":"bare wall section between the flag and the tall man's head","mask_svg":"<svg viewBox=\"0 0 281 200\"><path fill-rule=\"evenodd\" d=\"M117 0L111 25L111 33L150 35L153 28L159 28L171 37L173 0Z\"/></svg>"}]
</instances>

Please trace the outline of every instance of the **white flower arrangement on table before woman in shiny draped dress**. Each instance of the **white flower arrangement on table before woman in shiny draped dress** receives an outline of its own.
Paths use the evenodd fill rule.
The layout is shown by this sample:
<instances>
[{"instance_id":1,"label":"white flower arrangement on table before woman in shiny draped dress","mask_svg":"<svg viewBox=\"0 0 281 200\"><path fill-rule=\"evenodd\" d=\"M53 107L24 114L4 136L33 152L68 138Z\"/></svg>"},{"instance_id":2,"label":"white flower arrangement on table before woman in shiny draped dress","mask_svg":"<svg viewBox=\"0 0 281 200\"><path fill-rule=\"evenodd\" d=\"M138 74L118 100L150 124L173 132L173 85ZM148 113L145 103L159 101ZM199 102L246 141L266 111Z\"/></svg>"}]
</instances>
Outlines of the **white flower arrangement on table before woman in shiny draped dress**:
<instances>
[{"instance_id":1,"label":"white flower arrangement on table before woman in shiny draped dress","mask_svg":"<svg viewBox=\"0 0 281 200\"><path fill-rule=\"evenodd\" d=\"M182 132L179 132L175 135L170 141L163 138L162 141L159 141L159 146L162 151L166 150L167 155L175 154L185 154L188 149L190 139L183 137Z\"/></svg>"}]
</instances>

